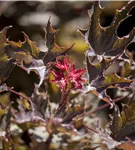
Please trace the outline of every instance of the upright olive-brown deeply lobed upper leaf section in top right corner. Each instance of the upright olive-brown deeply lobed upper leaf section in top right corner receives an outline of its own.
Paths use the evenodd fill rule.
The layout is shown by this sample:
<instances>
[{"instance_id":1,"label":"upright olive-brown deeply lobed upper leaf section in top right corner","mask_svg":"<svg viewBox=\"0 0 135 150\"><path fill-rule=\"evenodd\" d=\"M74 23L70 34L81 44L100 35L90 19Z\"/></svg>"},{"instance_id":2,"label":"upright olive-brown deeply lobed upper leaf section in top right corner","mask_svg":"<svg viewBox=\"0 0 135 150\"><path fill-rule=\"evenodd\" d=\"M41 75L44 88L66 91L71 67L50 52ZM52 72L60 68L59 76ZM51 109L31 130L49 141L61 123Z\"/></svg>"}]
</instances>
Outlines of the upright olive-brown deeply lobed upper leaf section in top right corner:
<instances>
[{"instance_id":1,"label":"upright olive-brown deeply lobed upper leaf section in top right corner","mask_svg":"<svg viewBox=\"0 0 135 150\"><path fill-rule=\"evenodd\" d=\"M135 1L130 0L121 10L117 10L114 20L108 27L101 27L100 15L103 8L100 6L100 0L95 0L93 7L89 12L90 26L88 33L85 34L86 42L89 42L95 54L118 55L127 47L134 38L135 30L133 29L127 36L119 38L117 28L121 21L129 16L129 11L134 7Z\"/></svg>"}]
</instances>

